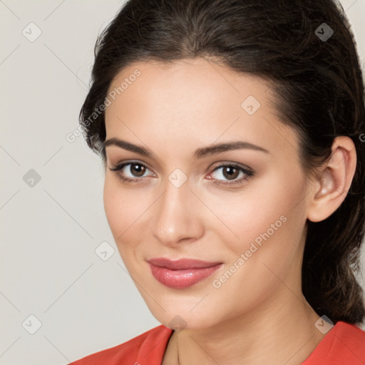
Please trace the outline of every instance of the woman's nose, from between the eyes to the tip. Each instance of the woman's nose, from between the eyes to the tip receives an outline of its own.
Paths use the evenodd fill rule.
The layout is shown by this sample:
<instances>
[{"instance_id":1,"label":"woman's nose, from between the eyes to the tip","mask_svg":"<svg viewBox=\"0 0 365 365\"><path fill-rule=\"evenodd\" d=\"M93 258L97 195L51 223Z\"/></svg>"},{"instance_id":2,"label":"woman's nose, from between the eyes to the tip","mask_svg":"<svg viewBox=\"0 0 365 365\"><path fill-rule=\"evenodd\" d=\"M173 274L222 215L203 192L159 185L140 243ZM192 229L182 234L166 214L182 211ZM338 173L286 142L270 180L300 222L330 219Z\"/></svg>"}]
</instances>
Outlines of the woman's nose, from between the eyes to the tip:
<instances>
[{"instance_id":1,"label":"woman's nose, from between the eyes to the tip","mask_svg":"<svg viewBox=\"0 0 365 365\"><path fill-rule=\"evenodd\" d=\"M155 212L155 237L168 245L196 237L199 222L192 214L196 207L187 177L184 178L180 171L173 172L165 181L164 191Z\"/></svg>"}]
</instances>

